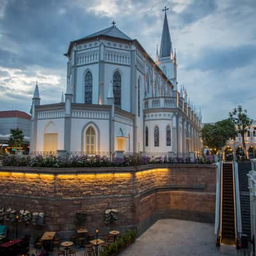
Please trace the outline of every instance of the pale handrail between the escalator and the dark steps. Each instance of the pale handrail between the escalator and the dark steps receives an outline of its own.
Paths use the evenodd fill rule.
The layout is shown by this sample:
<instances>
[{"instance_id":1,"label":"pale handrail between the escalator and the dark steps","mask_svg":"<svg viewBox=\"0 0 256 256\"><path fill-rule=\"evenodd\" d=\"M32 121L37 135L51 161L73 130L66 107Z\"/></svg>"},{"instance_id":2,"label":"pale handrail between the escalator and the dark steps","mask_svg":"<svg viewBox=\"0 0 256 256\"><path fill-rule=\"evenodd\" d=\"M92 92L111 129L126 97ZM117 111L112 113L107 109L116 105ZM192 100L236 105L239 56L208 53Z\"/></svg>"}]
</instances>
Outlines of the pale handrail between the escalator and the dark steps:
<instances>
[{"instance_id":1,"label":"pale handrail between the escalator and the dark steps","mask_svg":"<svg viewBox=\"0 0 256 256\"><path fill-rule=\"evenodd\" d=\"M236 214L236 238L241 238L242 234L242 220L241 220L241 205L240 205L240 188L239 188L239 176L238 176L238 164L236 161L233 162L234 166L234 195L236 202L235 214Z\"/></svg>"}]
</instances>

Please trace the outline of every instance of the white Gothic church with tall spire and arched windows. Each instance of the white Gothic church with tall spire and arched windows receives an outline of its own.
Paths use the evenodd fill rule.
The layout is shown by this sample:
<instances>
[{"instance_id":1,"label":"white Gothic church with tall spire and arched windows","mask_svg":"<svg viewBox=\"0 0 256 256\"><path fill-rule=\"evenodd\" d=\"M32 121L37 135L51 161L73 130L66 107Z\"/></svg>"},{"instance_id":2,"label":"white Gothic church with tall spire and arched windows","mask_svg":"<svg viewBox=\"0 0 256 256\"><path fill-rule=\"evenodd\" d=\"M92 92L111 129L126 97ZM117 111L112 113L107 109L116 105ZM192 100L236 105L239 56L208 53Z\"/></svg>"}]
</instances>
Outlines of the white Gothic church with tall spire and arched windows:
<instances>
[{"instance_id":1,"label":"white Gothic church with tall spire and arched windows","mask_svg":"<svg viewBox=\"0 0 256 256\"><path fill-rule=\"evenodd\" d=\"M177 83L164 15L156 61L113 26L70 42L65 99L31 107L31 152L200 152L202 115ZM179 90L178 90L179 87Z\"/></svg>"}]
</instances>

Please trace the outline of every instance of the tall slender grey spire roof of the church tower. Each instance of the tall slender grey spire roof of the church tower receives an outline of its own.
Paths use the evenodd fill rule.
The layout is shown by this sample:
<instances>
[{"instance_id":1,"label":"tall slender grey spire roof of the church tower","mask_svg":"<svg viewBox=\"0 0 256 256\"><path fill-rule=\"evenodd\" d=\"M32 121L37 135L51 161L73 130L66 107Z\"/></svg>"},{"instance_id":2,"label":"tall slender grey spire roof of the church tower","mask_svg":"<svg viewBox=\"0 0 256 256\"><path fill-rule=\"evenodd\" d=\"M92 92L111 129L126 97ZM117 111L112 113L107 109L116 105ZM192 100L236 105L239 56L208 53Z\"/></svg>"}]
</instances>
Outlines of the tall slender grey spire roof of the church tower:
<instances>
[{"instance_id":1,"label":"tall slender grey spire roof of the church tower","mask_svg":"<svg viewBox=\"0 0 256 256\"><path fill-rule=\"evenodd\" d=\"M172 41L168 26L168 20L166 12L164 14L164 26L161 37L161 46L160 46L160 58L169 57L171 55Z\"/></svg>"}]
</instances>

